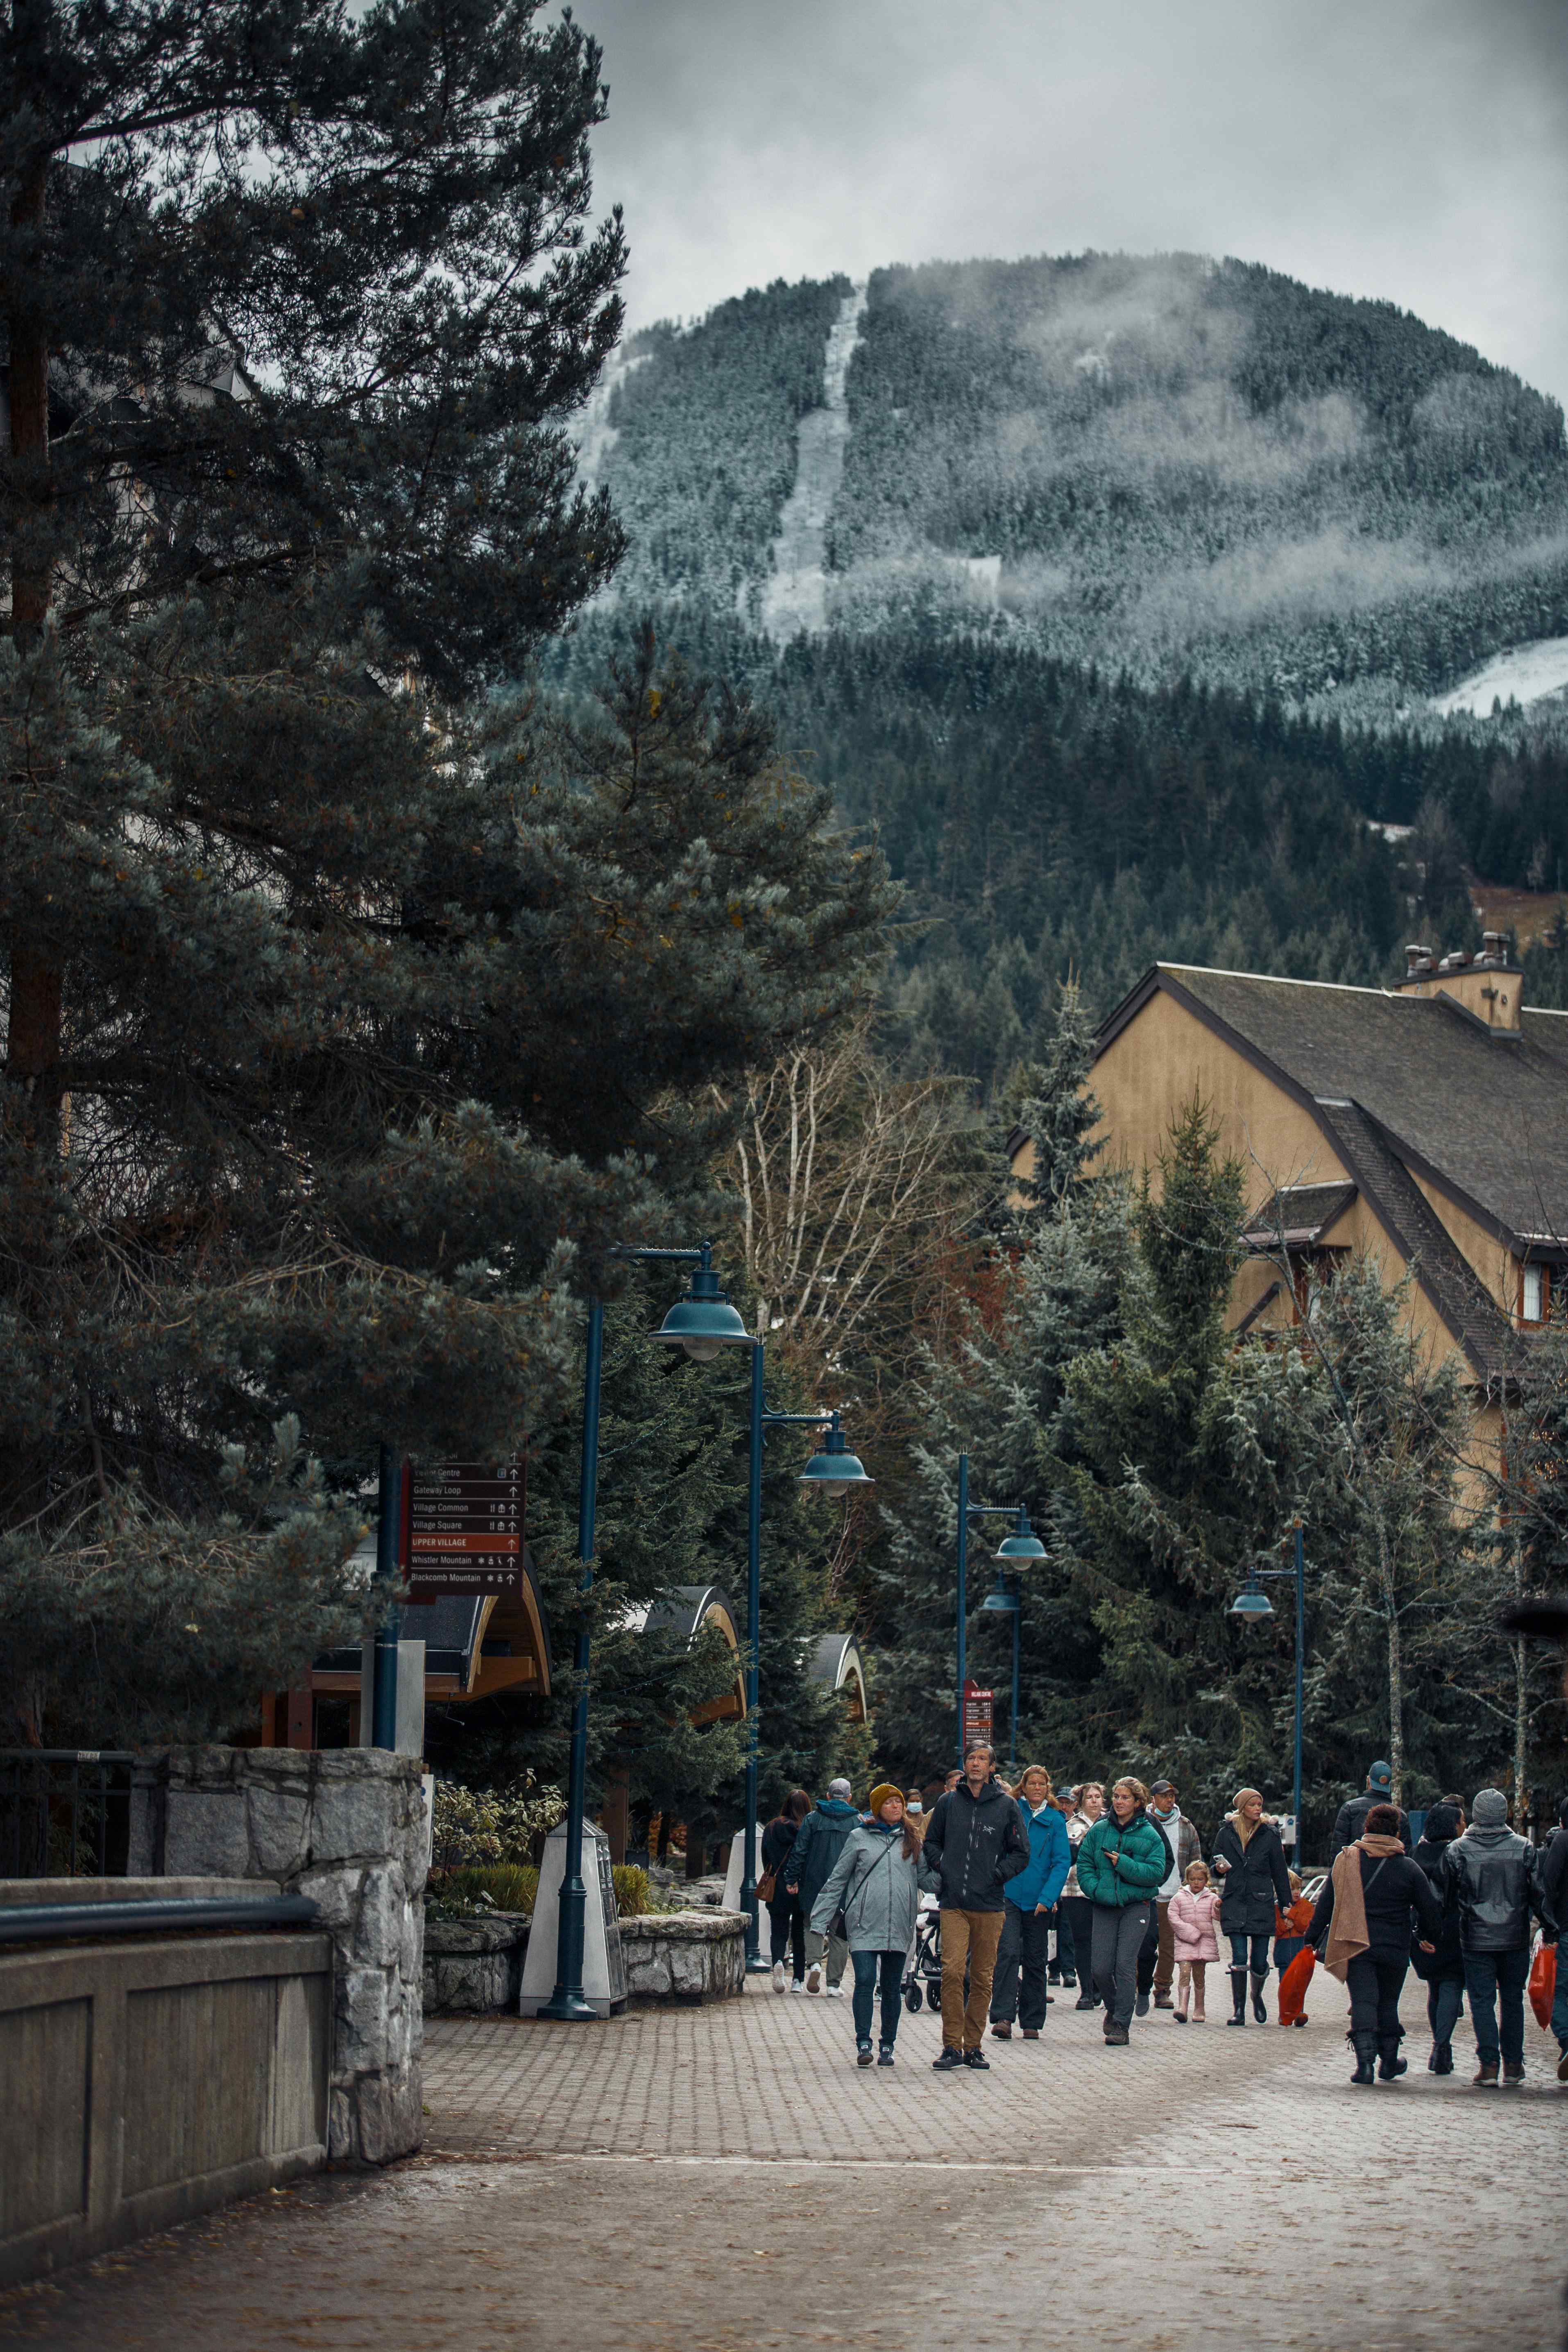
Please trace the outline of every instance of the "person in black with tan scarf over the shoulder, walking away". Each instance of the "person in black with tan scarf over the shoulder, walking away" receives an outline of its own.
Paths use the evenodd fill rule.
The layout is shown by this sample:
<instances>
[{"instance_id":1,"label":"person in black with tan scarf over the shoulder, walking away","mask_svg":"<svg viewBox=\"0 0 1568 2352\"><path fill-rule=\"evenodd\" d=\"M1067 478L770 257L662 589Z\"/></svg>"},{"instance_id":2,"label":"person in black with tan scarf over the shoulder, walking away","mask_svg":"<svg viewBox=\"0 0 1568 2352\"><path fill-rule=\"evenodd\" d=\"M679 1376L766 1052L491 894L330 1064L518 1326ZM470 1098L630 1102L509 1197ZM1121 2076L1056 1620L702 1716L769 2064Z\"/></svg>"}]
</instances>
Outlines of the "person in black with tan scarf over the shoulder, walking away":
<instances>
[{"instance_id":1,"label":"person in black with tan scarf over the shoulder, walking away","mask_svg":"<svg viewBox=\"0 0 1568 2352\"><path fill-rule=\"evenodd\" d=\"M1328 1973L1349 1992L1349 2042L1356 2053L1349 2079L1359 2084L1394 2082L1406 2072L1399 2056L1399 1990L1410 1966L1410 1915L1418 1919L1422 1950L1434 1952L1443 1907L1427 1872L1403 1849L1399 1806L1373 1804L1354 1846L1335 1853L1307 1931L1324 1952Z\"/></svg>"}]
</instances>

